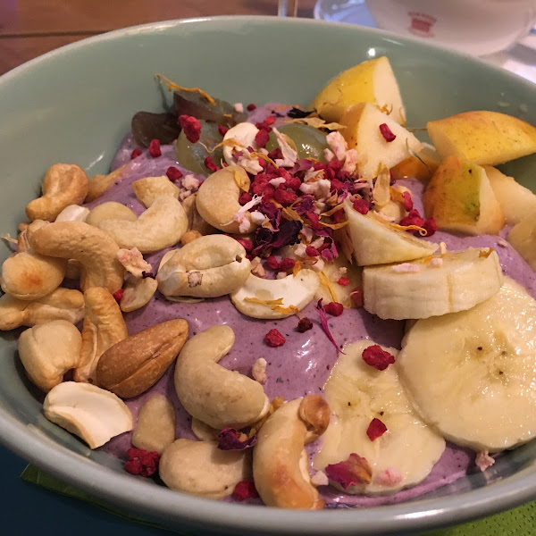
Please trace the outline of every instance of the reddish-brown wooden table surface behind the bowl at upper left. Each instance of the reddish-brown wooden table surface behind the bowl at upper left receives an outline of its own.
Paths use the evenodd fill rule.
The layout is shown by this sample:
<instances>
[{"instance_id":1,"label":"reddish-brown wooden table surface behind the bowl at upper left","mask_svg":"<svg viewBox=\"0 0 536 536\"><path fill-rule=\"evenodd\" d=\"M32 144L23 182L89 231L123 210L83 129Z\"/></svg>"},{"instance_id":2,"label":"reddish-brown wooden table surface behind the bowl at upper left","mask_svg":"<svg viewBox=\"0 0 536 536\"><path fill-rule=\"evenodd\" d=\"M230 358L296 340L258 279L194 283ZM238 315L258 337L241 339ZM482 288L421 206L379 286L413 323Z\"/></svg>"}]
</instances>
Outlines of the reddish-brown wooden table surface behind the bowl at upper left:
<instances>
[{"instance_id":1,"label":"reddish-brown wooden table surface behind the bowl at upper left","mask_svg":"<svg viewBox=\"0 0 536 536\"><path fill-rule=\"evenodd\" d=\"M312 17L314 0L297 16ZM277 0L0 0L0 74L111 29L206 15L277 15Z\"/></svg>"}]
</instances>

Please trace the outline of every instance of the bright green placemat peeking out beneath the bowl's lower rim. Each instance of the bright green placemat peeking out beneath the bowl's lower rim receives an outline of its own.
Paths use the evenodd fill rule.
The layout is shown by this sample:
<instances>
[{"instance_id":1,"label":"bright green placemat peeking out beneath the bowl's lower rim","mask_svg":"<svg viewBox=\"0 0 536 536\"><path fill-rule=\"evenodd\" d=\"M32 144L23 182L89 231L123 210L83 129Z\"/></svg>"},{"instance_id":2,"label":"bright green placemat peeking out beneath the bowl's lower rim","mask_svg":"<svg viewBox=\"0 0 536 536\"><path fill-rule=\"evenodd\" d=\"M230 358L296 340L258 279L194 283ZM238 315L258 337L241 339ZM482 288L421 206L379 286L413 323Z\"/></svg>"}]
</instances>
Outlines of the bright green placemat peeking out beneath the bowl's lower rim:
<instances>
[{"instance_id":1,"label":"bright green placemat peeking out beneath the bowl's lower rim","mask_svg":"<svg viewBox=\"0 0 536 536\"><path fill-rule=\"evenodd\" d=\"M37 484L47 490L53 490L69 497L79 498L96 507L103 508L107 512L115 515L120 515L131 521L143 523L151 527L163 529L164 531L175 532L182 536L194 536L186 532L179 532L169 529L158 523L147 521L140 515L132 514L118 507L113 507L105 502L94 498L85 491L81 491L72 487L70 484L65 484L54 476L51 476L44 471L41 471L34 465L28 465L21 473L21 479L25 482ZM529 502L522 507L513 508L501 514L490 515L484 519L465 523L440 531L426 532L423 536L535 536L536 535L536 501Z\"/></svg>"}]
</instances>

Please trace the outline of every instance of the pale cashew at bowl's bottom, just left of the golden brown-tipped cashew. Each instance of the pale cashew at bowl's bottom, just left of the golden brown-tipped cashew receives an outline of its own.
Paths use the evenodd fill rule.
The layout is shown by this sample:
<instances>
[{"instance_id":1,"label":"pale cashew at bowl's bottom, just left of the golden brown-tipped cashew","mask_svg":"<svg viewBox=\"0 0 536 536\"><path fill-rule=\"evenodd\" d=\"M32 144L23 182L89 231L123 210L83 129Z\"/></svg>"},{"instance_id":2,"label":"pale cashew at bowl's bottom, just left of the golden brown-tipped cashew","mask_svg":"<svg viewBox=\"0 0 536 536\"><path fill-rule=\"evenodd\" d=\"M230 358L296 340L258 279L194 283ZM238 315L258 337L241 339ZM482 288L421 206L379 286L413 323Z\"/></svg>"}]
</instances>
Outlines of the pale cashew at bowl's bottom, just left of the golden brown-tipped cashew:
<instances>
[{"instance_id":1,"label":"pale cashew at bowl's bottom, just left of the golden brown-tipped cashew","mask_svg":"<svg viewBox=\"0 0 536 536\"><path fill-rule=\"evenodd\" d=\"M172 490L222 498L247 480L249 465L246 450L220 450L213 441L176 440L163 451L158 473Z\"/></svg>"}]
</instances>

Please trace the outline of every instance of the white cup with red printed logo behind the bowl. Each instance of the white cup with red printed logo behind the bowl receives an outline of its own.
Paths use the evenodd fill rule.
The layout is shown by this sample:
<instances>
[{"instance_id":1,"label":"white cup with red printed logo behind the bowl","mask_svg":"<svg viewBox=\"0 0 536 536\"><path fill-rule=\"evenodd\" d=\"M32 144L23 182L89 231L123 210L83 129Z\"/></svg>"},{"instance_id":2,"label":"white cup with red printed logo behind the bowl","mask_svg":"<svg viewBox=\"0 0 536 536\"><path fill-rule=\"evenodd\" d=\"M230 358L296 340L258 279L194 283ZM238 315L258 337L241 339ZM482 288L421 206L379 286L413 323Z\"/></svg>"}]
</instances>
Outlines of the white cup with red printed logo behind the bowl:
<instances>
[{"instance_id":1,"label":"white cup with red printed logo behind the bowl","mask_svg":"<svg viewBox=\"0 0 536 536\"><path fill-rule=\"evenodd\" d=\"M365 0L382 29L436 41L470 54L493 54L536 22L536 0Z\"/></svg>"}]
</instances>

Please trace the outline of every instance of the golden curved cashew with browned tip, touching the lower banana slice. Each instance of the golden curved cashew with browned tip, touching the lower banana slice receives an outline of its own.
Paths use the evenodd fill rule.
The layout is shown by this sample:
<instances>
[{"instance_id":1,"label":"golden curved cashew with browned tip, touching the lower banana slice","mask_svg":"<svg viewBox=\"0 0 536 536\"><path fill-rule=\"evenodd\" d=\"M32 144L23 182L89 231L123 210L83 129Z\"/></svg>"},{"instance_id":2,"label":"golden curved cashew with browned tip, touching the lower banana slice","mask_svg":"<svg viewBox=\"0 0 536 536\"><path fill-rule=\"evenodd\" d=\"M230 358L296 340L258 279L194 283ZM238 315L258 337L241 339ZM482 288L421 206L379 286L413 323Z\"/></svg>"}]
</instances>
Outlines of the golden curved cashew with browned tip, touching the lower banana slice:
<instances>
[{"instance_id":1,"label":"golden curved cashew with browned tip, touching the lower banana slice","mask_svg":"<svg viewBox=\"0 0 536 536\"><path fill-rule=\"evenodd\" d=\"M319 395L287 402L268 417L253 450L255 488L266 506L323 507L311 483L304 445L322 435L329 422L330 407Z\"/></svg>"}]
</instances>

